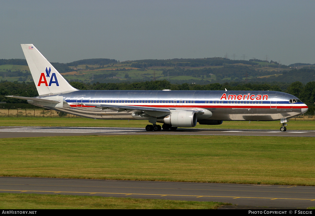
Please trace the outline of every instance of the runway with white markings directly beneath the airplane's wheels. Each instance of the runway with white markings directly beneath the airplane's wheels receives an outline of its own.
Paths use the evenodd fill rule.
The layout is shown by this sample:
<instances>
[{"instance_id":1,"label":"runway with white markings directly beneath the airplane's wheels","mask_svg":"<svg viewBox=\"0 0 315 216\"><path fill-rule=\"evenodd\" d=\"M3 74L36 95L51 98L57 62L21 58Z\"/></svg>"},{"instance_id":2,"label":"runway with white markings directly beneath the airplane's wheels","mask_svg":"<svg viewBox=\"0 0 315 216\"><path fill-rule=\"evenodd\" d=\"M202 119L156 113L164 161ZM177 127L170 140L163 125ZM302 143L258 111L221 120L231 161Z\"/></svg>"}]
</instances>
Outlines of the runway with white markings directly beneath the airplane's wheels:
<instances>
[{"instance_id":1,"label":"runway with white markings directly beneath the airplane's wheels","mask_svg":"<svg viewBox=\"0 0 315 216\"><path fill-rule=\"evenodd\" d=\"M146 131L144 128L98 128L98 127L0 127L0 138L79 136L79 135L231 135L231 136L291 136L315 137L315 130L260 130L260 129L198 129L178 128L175 131Z\"/></svg>"}]
</instances>

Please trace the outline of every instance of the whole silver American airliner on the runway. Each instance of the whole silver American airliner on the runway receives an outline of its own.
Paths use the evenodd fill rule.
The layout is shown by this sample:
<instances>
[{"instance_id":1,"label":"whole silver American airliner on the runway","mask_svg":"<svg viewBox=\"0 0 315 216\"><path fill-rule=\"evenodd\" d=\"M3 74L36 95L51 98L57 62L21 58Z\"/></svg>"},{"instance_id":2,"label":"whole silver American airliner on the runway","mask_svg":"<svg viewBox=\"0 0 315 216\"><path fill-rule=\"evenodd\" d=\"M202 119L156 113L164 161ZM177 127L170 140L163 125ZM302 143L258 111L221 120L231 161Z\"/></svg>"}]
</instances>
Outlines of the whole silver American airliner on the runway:
<instances>
[{"instance_id":1,"label":"whole silver American airliner on the runway","mask_svg":"<svg viewBox=\"0 0 315 216\"><path fill-rule=\"evenodd\" d=\"M7 96L94 119L148 120L147 131L219 125L223 121L276 121L286 131L289 118L308 110L297 97L276 91L78 90L33 44L21 44L37 97ZM162 127L157 124L163 123Z\"/></svg>"}]
</instances>

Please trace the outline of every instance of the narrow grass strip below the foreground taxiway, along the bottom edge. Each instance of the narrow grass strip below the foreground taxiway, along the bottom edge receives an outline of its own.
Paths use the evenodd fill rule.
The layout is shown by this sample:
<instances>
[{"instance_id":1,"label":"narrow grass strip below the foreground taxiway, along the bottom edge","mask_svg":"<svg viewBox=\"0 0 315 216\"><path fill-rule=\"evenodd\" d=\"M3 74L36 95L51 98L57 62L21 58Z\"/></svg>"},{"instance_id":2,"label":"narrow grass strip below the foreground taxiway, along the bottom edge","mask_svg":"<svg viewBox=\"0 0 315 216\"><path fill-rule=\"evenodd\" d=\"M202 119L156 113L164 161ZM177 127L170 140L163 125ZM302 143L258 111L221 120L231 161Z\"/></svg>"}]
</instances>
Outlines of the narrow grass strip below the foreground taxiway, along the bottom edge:
<instances>
[{"instance_id":1,"label":"narrow grass strip below the foreground taxiway, along the bottom edge","mask_svg":"<svg viewBox=\"0 0 315 216\"><path fill-rule=\"evenodd\" d=\"M216 209L225 204L100 196L0 193L0 209Z\"/></svg>"}]
</instances>

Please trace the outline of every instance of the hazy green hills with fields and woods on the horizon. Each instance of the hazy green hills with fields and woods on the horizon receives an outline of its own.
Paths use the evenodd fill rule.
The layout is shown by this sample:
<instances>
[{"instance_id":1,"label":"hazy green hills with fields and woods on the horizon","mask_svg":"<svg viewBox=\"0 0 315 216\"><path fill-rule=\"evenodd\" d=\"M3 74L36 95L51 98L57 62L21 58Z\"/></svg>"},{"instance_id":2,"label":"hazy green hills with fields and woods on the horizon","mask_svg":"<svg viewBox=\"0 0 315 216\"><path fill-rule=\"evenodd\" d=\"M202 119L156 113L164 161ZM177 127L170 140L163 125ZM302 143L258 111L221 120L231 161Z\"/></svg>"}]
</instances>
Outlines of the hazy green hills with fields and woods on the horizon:
<instances>
[{"instance_id":1,"label":"hazy green hills with fields and woods on the horizon","mask_svg":"<svg viewBox=\"0 0 315 216\"><path fill-rule=\"evenodd\" d=\"M14 64L5 64L5 63ZM3 64L2 64L3 63ZM2 64L2 65L1 65ZM262 60L226 58L135 60L86 59L52 65L71 82L144 82L168 80L171 83L287 82L314 80L314 65L299 67ZM311 80L310 80L311 79ZM0 80L30 82L32 78L24 60L0 60Z\"/></svg>"}]
</instances>

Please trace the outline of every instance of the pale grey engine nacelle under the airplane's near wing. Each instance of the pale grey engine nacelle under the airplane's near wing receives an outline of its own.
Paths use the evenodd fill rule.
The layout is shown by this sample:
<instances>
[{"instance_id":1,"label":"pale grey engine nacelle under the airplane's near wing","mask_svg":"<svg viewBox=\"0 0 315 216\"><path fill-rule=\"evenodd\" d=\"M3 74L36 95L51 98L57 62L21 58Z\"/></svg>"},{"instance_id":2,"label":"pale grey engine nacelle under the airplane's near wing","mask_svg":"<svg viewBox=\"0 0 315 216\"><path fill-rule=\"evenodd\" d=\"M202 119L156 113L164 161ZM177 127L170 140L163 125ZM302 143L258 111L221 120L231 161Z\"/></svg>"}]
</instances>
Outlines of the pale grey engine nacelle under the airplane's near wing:
<instances>
[{"instance_id":1,"label":"pale grey engine nacelle under the airplane's near wing","mask_svg":"<svg viewBox=\"0 0 315 216\"><path fill-rule=\"evenodd\" d=\"M172 125L173 127L195 127L197 124L197 113L195 111L173 111L157 122Z\"/></svg>"}]
</instances>

